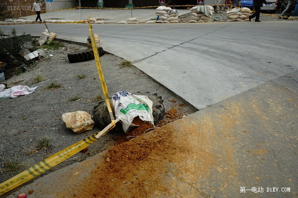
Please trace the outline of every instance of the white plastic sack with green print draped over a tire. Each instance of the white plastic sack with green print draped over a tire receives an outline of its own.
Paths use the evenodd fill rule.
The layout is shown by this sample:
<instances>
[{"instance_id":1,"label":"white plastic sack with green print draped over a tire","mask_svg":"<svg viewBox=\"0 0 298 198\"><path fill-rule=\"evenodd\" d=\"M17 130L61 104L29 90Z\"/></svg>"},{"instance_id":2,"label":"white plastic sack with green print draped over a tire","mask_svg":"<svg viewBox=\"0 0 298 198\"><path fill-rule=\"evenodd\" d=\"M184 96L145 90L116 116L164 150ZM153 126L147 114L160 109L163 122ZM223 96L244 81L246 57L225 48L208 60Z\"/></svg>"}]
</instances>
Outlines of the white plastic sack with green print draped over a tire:
<instances>
[{"instance_id":1,"label":"white plastic sack with green print draped over a tire","mask_svg":"<svg viewBox=\"0 0 298 198\"><path fill-rule=\"evenodd\" d=\"M139 116L154 126L152 114L153 102L147 96L135 95L126 91L119 91L112 97L112 105L116 119L122 121L123 131L127 132L134 118Z\"/></svg>"}]
</instances>

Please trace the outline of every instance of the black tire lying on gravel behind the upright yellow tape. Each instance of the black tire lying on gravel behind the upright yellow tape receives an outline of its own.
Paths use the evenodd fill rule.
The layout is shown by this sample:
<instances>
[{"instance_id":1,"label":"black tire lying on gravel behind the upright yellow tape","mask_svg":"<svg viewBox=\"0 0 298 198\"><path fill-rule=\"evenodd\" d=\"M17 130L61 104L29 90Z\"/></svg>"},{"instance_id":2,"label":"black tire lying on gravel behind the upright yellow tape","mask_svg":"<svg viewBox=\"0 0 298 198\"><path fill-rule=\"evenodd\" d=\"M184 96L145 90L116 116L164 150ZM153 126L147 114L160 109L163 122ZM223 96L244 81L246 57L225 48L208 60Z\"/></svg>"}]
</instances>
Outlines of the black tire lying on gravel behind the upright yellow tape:
<instances>
[{"instance_id":1,"label":"black tire lying on gravel behind the upright yellow tape","mask_svg":"<svg viewBox=\"0 0 298 198\"><path fill-rule=\"evenodd\" d=\"M98 47L98 54L99 56L103 56L105 52L103 51L102 47ZM67 55L70 63L79 63L84 61L90 61L94 59L94 54L92 48L81 50L77 52L72 52Z\"/></svg>"}]
</instances>

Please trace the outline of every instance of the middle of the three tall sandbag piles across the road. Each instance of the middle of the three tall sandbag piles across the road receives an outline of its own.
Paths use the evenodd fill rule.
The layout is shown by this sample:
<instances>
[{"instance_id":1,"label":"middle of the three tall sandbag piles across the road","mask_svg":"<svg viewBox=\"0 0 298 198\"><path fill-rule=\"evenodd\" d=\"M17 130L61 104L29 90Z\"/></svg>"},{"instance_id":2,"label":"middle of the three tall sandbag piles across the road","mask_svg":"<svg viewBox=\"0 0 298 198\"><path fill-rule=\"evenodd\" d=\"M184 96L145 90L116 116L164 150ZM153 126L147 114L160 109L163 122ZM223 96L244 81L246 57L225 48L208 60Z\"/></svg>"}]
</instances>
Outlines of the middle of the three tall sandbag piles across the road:
<instances>
[{"instance_id":1,"label":"middle of the three tall sandbag piles across the road","mask_svg":"<svg viewBox=\"0 0 298 198\"><path fill-rule=\"evenodd\" d=\"M189 9L191 14L191 20L189 23L196 22L210 22L214 13L214 8L210 5L194 6Z\"/></svg>"}]
</instances>

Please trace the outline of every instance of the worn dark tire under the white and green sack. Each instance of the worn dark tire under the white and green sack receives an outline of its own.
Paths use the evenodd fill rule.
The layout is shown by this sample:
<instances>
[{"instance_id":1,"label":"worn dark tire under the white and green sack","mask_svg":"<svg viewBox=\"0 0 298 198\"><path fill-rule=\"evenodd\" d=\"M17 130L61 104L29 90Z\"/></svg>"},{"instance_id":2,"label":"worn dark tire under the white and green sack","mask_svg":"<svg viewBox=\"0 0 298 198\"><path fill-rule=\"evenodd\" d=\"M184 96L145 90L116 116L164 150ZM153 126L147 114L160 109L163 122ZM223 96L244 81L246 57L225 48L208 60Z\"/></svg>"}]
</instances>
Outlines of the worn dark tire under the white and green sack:
<instances>
[{"instance_id":1,"label":"worn dark tire under the white and green sack","mask_svg":"<svg viewBox=\"0 0 298 198\"><path fill-rule=\"evenodd\" d=\"M154 125L158 124L160 120L164 118L164 114L165 114L165 109L162 104L163 100L161 96L157 96L156 93L150 94L149 92L147 93L137 92L136 95L146 95L153 102L153 105L152 105L152 115L154 118L153 122L154 122ZM106 126L108 126L111 123L108 107L104 100L99 101L98 105L93 107L92 114L93 114L93 120L95 122L95 126L98 127L100 130L103 130ZM114 109L113 109L113 115L115 117ZM122 124L117 123L113 131L123 131Z\"/></svg>"}]
</instances>

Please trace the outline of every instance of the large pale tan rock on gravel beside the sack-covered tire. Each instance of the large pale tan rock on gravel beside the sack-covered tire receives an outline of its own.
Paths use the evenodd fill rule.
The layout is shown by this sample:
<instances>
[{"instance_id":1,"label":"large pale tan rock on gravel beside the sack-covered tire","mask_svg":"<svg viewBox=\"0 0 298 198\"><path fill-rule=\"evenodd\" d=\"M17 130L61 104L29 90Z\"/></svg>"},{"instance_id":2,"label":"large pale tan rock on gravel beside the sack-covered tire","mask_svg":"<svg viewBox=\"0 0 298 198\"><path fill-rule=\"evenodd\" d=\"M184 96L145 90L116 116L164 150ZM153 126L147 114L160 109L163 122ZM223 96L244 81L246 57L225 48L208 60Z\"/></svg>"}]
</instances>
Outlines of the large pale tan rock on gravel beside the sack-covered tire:
<instances>
[{"instance_id":1,"label":"large pale tan rock on gravel beside the sack-covered tire","mask_svg":"<svg viewBox=\"0 0 298 198\"><path fill-rule=\"evenodd\" d=\"M68 129L76 133L85 132L94 127L91 115L84 111L65 113L62 115L62 121Z\"/></svg>"}]
</instances>

